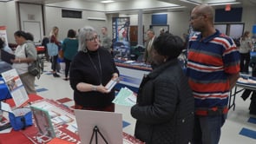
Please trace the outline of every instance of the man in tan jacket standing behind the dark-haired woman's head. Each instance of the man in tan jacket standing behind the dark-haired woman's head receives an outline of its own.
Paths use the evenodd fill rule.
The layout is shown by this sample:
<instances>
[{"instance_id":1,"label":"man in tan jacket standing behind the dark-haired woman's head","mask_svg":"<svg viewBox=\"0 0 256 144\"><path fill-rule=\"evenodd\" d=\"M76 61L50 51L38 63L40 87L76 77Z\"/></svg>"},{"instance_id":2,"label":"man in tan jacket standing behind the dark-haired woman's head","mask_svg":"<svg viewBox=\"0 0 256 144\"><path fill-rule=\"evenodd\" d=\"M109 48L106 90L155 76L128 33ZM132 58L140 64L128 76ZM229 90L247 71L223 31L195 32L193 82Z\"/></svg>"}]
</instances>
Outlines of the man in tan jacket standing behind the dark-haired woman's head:
<instances>
[{"instance_id":1,"label":"man in tan jacket standing behind the dark-haired woman's head","mask_svg":"<svg viewBox=\"0 0 256 144\"><path fill-rule=\"evenodd\" d=\"M146 42L146 49L145 49L145 53L144 53L144 62L146 63L151 63L152 58L150 56L150 51L153 47L153 43L154 43L154 30L153 29L148 29L147 31L147 42Z\"/></svg>"}]
</instances>

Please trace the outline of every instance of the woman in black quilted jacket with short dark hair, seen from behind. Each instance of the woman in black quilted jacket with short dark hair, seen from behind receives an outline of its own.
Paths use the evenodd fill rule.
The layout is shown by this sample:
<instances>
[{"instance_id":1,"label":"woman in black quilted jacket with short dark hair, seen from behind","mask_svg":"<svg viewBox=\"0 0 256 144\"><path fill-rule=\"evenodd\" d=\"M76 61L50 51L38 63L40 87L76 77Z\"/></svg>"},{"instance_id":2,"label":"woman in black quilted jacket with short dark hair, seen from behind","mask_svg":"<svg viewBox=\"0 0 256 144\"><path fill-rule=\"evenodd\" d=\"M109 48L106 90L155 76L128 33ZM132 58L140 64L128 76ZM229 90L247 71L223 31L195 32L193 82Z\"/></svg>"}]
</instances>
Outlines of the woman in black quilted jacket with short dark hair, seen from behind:
<instances>
[{"instance_id":1,"label":"woman in black quilted jacket with short dark hair, seen from behind","mask_svg":"<svg viewBox=\"0 0 256 144\"><path fill-rule=\"evenodd\" d=\"M147 144L187 144L192 139L194 97L177 57L184 43L162 34L151 51L153 71L142 79L131 115L135 137Z\"/></svg>"}]
</instances>

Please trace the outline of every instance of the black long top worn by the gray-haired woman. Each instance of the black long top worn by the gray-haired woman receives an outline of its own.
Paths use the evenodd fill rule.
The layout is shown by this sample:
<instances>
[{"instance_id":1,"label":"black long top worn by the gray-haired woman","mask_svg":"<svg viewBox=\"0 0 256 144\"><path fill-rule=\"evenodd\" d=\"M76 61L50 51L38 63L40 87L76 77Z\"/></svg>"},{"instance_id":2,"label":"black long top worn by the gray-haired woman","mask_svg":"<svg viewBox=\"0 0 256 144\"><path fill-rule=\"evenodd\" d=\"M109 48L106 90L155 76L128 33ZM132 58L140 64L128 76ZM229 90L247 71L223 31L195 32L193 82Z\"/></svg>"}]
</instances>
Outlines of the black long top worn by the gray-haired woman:
<instances>
[{"instance_id":1,"label":"black long top worn by the gray-haired woman","mask_svg":"<svg viewBox=\"0 0 256 144\"><path fill-rule=\"evenodd\" d=\"M119 74L119 71L107 49L99 48L87 53L79 51L71 63L69 74L70 85L74 89L75 103L87 108L105 108L112 104L111 101L115 98L114 89L108 94L97 91L81 92L76 89L76 85L79 82L86 82L93 85L102 83L105 86L114 73Z\"/></svg>"}]
</instances>

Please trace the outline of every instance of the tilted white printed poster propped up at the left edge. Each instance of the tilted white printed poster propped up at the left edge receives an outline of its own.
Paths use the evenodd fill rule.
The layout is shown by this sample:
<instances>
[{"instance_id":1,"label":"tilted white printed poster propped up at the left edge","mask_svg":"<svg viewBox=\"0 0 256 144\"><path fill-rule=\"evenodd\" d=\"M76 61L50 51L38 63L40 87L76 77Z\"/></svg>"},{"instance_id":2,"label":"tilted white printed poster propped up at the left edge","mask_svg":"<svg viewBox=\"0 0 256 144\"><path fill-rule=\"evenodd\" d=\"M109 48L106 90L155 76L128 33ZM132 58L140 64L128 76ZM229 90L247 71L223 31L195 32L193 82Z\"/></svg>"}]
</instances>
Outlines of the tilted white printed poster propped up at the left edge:
<instances>
[{"instance_id":1,"label":"tilted white printed poster propped up at the left edge","mask_svg":"<svg viewBox=\"0 0 256 144\"><path fill-rule=\"evenodd\" d=\"M10 69L3 72L1 75L10 90L10 95L12 96L16 107L22 107L27 104L29 102L29 96L23 86L23 82L16 72L16 69Z\"/></svg>"}]
</instances>

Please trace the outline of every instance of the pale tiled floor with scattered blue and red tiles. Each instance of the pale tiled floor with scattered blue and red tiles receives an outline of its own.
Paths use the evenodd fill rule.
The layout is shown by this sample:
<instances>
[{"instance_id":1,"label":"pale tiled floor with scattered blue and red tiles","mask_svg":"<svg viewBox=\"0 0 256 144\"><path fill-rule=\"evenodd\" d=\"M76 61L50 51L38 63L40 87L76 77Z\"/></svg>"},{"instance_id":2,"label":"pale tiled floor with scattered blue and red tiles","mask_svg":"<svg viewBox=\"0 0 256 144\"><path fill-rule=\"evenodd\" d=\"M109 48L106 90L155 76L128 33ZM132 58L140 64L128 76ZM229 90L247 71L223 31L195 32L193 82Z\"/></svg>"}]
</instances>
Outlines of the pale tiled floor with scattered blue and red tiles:
<instances>
[{"instance_id":1,"label":"pale tiled floor with scattered blue and red tiles","mask_svg":"<svg viewBox=\"0 0 256 144\"><path fill-rule=\"evenodd\" d=\"M64 81L64 75L55 78L50 73L50 63L45 63L45 72L39 80L36 80L37 95L44 98L62 101L64 105L74 105L73 90L69 81ZM71 101L70 101L71 100ZM235 110L229 110L226 123L221 131L220 144L255 144L256 143L256 115L249 115L250 99L243 101L240 95L236 96ZM130 115L129 107L115 106L117 113L122 114L123 131L134 134L135 119Z\"/></svg>"}]
</instances>

